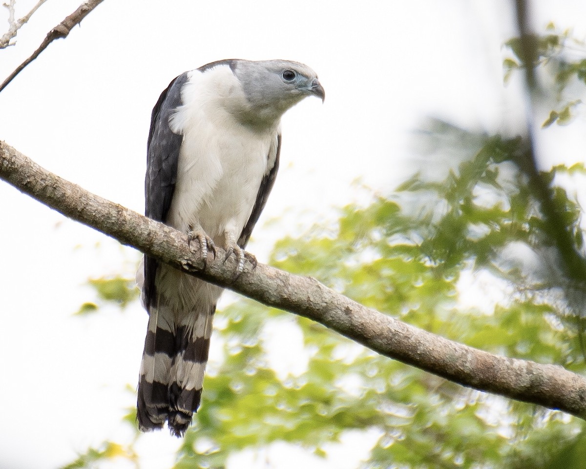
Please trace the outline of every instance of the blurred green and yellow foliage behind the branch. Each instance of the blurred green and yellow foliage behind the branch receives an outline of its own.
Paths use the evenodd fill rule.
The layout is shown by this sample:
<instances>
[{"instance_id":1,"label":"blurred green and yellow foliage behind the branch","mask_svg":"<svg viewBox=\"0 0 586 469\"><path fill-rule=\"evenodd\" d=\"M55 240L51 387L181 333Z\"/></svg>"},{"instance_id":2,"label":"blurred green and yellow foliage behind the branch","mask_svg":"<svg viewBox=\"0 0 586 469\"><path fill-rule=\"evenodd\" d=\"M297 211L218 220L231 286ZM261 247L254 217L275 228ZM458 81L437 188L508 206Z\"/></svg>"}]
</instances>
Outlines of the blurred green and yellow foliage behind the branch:
<instances>
[{"instance_id":1,"label":"blurred green and yellow foliage behind the branch","mask_svg":"<svg viewBox=\"0 0 586 469\"><path fill-rule=\"evenodd\" d=\"M550 31L539 40L543 64L554 60L567 36ZM515 41L508 45L514 52ZM520 66L505 61L505 67ZM564 67L584 80L579 67ZM570 83L568 73L556 76L561 87ZM372 194L368 206L340 209L335 227L281 239L272 265L314 276L452 340L584 374L584 282L564 268L541 210L543 195L528 183L522 159L529 143L441 121L428 123L421 142L428 150L421 170L392 196ZM582 164L540 174L572 234L570 252L580 257L582 211L563 184L583 182L584 175ZM124 288L112 289L123 292L121 306ZM475 302L464 302L466 295ZM271 367L267 323L292 336L302 332L301 347L287 341L282 347L308 358L303 371L282 376ZM349 430L373 429L379 437L363 461L368 469L584 467L586 423L580 419L463 388L251 300L219 311L215 326L223 359L209 364L202 406L175 469L226 467L230 454L275 441L326 457L328 445ZM124 422L137 432L134 409ZM138 438L137 432L128 446L104 443L67 468L113 457L136 463Z\"/></svg>"}]
</instances>

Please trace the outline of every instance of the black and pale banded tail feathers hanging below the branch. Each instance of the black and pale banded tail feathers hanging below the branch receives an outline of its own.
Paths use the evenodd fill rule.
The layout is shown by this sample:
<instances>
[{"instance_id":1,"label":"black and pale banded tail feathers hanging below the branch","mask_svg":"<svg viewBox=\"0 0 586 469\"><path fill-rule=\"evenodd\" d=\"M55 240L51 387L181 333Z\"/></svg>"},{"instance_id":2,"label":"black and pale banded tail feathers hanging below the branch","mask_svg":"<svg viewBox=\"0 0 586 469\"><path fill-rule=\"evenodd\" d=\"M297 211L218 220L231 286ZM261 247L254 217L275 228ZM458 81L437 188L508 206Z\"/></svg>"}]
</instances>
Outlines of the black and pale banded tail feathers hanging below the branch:
<instances>
[{"instance_id":1,"label":"black and pale banded tail feathers hanging below the branch","mask_svg":"<svg viewBox=\"0 0 586 469\"><path fill-rule=\"evenodd\" d=\"M202 396L215 309L192 311L180 324L175 314L151 310L138 384L137 419L143 432L165 422L175 436L188 429Z\"/></svg>"}]
</instances>

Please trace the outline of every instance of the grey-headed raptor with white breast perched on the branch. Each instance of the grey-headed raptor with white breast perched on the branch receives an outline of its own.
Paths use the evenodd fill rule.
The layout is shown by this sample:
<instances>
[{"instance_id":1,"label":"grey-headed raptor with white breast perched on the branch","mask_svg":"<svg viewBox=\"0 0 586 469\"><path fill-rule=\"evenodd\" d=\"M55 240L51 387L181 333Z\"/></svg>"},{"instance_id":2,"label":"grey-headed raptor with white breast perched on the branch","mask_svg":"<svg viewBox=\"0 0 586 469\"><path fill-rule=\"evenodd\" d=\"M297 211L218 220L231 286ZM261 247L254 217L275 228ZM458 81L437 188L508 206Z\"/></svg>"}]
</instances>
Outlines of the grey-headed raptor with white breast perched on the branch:
<instances>
[{"instance_id":1,"label":"grey-headed raptor with white breast perched on the branch","mask_svg":"<svg viewBox=\"0 0 586 469\"><path fill-rule=\"evenodd\" d=\"M277 176L281 116L308 96L325 100L318 76L290 60L219 60L173 79L151 114L145 215L185 232L204 268L223 247L240 275ZM182 437L200 405L223 289L147 255L137 284L149 314L138 426L146 432L166 423Z\"/></svg>"}]
</instances>

